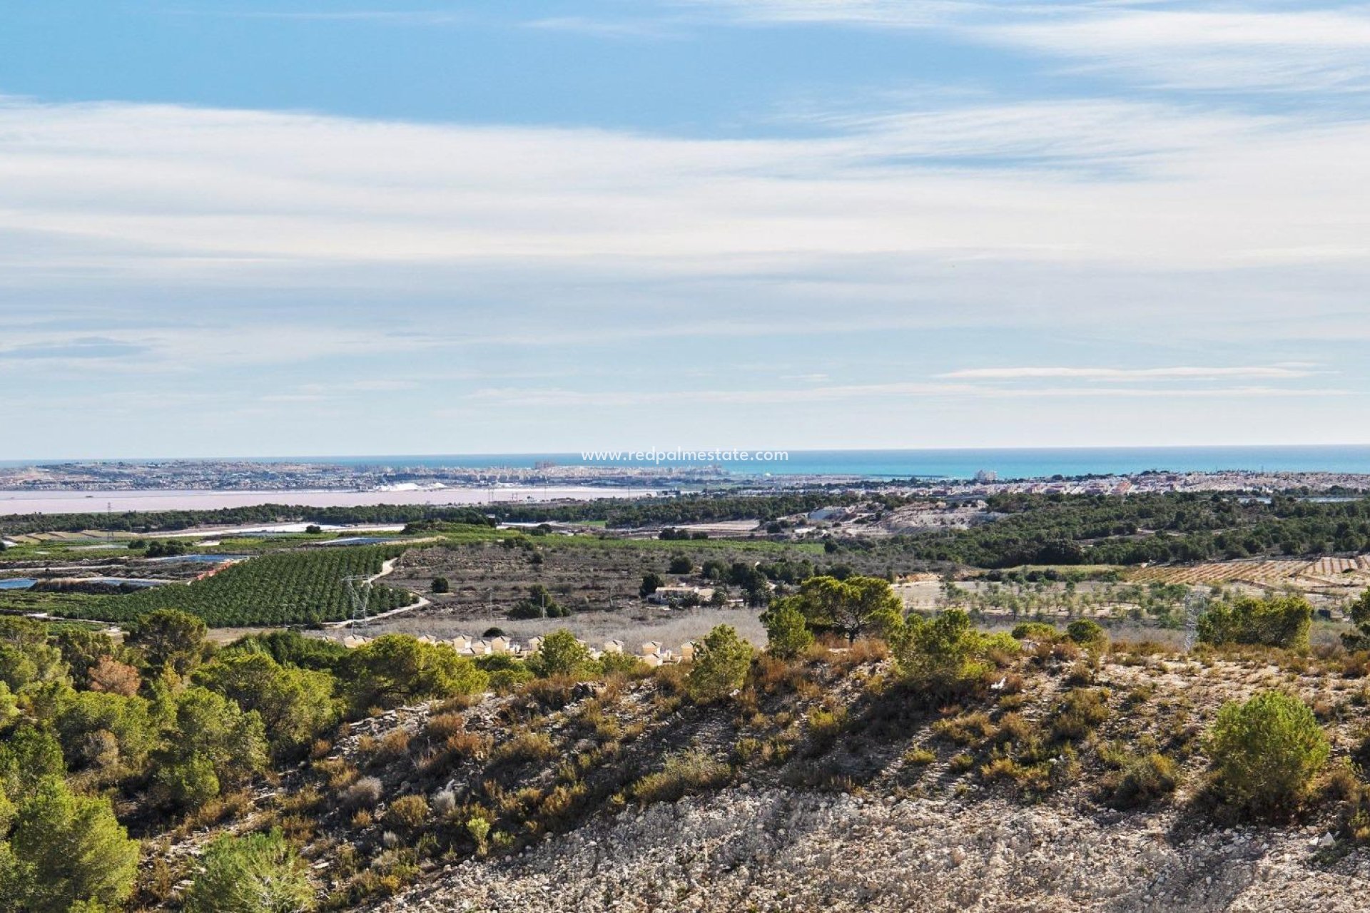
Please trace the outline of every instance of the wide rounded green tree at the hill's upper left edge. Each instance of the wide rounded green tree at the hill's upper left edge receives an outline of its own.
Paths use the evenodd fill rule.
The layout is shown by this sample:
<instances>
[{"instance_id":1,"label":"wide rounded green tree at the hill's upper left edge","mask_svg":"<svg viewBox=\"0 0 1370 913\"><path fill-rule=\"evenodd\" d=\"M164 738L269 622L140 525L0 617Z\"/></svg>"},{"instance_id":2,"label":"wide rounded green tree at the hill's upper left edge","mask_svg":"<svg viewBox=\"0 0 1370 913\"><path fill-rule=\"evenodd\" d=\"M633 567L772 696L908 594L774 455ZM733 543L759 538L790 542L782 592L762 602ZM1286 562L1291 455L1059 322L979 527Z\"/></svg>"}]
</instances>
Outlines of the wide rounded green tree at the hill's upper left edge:
<instances>
[{"instance_id":1,"label":"wide rounded green tree at the hill's upper left edge","mask_svg":"<svg viewBox=\"0 0 1370 913\"><path fill-rule=\"evenodd\" d=\"M351 682L360 709L475 694L489 684L489 678L452 647L406 634L382 634L352 650L342 678Z\"/></svg>"}]
</instances>

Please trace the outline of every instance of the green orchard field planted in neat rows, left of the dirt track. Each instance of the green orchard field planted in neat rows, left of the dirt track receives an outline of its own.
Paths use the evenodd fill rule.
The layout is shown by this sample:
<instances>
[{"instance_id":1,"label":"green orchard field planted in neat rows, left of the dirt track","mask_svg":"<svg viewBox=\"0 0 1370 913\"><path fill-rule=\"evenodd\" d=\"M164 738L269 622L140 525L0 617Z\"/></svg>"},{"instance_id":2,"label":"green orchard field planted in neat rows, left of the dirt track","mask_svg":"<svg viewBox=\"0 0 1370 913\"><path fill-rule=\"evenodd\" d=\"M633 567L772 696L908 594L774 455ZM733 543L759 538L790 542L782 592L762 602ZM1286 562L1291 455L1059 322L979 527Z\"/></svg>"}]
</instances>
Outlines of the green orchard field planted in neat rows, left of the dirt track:
<instances>
[{"instance_id":1,"label":"green orchard field planted in neat rows, left of the dirt track","mask_svg":"<svg viewBox=\"0 0 1370 913\"><path fill-rule=\"evenodd\" d=\"M182 609L211 627L316 624L351 616L348 576L374 576L399 557L403 546L356 546L266 554L195 580L127 595L68 600L63 617L133 621L156 609ZM377 583L370 612L386 612L415 602L404 590Z\"/></svg>"}]
</instances>

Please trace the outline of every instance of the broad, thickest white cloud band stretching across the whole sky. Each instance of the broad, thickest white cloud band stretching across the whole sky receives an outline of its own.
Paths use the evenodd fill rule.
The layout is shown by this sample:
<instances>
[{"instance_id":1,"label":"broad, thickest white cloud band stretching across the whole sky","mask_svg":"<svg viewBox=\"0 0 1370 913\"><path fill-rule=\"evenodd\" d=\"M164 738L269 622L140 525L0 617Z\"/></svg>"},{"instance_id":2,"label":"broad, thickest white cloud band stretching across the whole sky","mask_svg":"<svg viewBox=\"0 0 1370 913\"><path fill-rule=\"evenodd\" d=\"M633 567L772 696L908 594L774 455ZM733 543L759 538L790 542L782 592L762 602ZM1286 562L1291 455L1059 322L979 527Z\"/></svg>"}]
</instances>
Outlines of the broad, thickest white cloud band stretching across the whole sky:
<instances>
[{"instance_id":1,"label":"broad, thickest white cloud band stretching across the whole sky","mask_svg":"<svg viewBox=\"0 0 1370 913\"><path fill-rule=\"evenodd\" d=\"M48 246L8 245L0 267L22 282L347 264L699 277L815 256L1358 263L1367 142L1367 125L1129 103L734 141L11 101L0 229Z\"/></svg>"}]
</instances>

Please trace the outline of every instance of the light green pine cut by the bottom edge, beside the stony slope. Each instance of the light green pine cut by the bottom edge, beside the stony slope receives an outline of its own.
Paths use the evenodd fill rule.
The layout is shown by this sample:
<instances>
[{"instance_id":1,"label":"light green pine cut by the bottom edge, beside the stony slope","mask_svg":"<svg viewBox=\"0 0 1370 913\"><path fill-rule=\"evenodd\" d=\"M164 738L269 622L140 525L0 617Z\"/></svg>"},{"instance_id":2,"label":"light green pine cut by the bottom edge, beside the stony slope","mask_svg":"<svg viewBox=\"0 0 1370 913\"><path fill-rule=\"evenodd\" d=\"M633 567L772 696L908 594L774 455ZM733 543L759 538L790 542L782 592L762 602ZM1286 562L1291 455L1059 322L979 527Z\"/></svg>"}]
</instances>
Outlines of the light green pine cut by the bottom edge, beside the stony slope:
<instances>
[{"instance_id":1,"label":"light green pine cut by the bottom edge, beside the stony slope","mask_svg":"<svg viewBox=\"0 0 1370 913\"><path fill-rule=\"evenodd\" d=\"M303 913L314 909L308 869L279 830L223 835L204 850L186 913Z\"/></svg>"}]
</instances>

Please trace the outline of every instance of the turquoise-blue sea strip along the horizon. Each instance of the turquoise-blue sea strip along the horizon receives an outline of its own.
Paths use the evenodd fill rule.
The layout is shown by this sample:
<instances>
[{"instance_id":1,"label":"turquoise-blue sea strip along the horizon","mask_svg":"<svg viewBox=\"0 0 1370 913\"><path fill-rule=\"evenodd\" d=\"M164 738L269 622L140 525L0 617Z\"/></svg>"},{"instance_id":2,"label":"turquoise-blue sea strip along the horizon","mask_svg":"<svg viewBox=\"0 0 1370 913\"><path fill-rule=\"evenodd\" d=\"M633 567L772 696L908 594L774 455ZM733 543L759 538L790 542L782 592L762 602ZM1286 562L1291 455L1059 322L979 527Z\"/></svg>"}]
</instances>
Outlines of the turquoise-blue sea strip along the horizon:
<instances>
[{"instance_id":1,"label":"turquoise-blue sea strip along the horizon","mask_svg":"<svg viewBox=\"0 0 1370 913\"><path fill-rule=\"evenodd\" d=\"M758 453L758 452L751 452ZM766 452L762 452L766 456ZM225 457L229 459L229 457ZM233 457L244 459L244 457ZM247 461L321 463L349 467L533 468L556 465L699 467L708 461L656 459L588 460L580 453L466 453L389 456L251 457ZM141 460L125 460L138 463ZM59 460L14 460L34 465ZM1344 472L1370 474L1370 445L1191 446L1191 448L1018 448L918 450L788 450L784 459L718 460L736 476L843 476L864 479L969 479L980 471L1000 479L1169 472Z\"/></svg>"}]
</instances>

